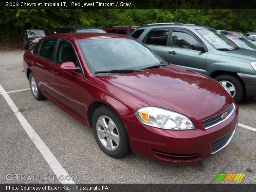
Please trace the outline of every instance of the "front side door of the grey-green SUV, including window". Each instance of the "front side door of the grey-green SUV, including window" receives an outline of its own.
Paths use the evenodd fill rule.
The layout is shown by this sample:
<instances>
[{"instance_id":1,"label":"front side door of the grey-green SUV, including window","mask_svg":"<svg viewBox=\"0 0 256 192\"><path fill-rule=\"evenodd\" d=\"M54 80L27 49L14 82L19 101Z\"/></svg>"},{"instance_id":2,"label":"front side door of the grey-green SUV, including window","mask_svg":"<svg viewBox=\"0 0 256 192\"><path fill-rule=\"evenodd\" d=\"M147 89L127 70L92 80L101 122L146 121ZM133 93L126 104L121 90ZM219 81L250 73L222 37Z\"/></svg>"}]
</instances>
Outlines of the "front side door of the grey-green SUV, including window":
<instances>
[{"instance_id":1,"label":"front side door of the grey-green SUV, including window","mask_svg":"<svg viewBox=\"0 0 256 192\"><path fill-rule=\"evenodd\" d=\"M200 38L188 30L173 28L169 42L166 61L204 73L208 52L193 50L194 44L203 44Z\"/></svg>"}]
</instances>

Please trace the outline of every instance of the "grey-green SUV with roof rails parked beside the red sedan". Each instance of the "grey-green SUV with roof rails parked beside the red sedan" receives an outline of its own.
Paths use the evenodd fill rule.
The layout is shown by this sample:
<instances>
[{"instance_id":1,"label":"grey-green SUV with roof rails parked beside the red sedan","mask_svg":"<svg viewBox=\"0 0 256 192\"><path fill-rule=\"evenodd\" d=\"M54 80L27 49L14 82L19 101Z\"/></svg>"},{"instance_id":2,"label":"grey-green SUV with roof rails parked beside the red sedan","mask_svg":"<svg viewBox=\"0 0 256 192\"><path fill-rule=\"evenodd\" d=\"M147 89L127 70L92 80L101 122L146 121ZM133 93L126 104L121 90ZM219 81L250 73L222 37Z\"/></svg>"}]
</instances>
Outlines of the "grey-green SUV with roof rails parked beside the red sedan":
<instances>
[{"instance_id":1,"label":"grey-green SUV with roof rails parked beside the red sedan","mask_svg":"<svg viewBox=\"0 0 256 192\"><path fill-rule=\"evenodd\" d=\"M214 78L236 102L256 96L256 51L238 47L215 29L198 24L146 24L131 36L167 62Z\"/></svg>"}]
</instances>

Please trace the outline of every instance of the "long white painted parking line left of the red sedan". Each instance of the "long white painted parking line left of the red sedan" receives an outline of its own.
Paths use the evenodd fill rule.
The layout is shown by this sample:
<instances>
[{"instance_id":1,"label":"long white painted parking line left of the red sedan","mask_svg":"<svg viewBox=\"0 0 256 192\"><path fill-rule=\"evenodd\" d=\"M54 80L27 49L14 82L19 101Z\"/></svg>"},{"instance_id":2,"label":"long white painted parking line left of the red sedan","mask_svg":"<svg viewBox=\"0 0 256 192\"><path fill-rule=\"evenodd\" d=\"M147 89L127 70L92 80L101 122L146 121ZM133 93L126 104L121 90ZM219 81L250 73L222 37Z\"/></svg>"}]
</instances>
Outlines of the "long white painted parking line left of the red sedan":
<instances>
[{"instance_id":1,"label":"long white painted parking line left of the red sedan","mask_svg":"<svg viewBox=\"0 0 256 192\"><path fill-rule=\"evenodd\" d=\"M66 170L62 167L60 162L56 159L56 157L52 154L50 149L46 146L46 144L43 142L43 140L38 136L38 134L35 132L35 130L32 128L32 126L29 124L29 122L26 120L26 118L21 114L21 112L18 110L10 96L7 94L7 92L4 90L4 88L0 85L0 93L18 118L20 124L32 140L32 142L35 144L36 148L40 151L46 162L49 164L50 168L54 172L54 174L57 176L57 178L66 178L69 174L66 172ZM72 180L59 180L62 184L75 184Z\"/></svg>"}]
</instances>

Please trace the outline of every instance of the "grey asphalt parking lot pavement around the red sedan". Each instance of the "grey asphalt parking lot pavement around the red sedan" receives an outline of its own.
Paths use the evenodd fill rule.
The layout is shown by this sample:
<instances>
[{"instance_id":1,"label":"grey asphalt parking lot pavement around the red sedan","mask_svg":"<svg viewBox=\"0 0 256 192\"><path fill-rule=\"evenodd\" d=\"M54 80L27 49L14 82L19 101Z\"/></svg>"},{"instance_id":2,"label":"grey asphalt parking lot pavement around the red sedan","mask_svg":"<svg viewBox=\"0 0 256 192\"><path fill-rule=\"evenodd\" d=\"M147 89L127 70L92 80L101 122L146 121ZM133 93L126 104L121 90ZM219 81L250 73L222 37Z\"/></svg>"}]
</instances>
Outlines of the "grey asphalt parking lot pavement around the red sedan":
<instances>
[{"instance_id":1,"label":"grey asphalt parking lot pavement around the red sedan","mask_svg":"<svg viewBox=\"0 0 256 192\"><path fill-rule=\"evenodd\" d=\"M29 88L23 52L0 52L0 85L6 92ZM218 173L245 173L241 183L256 183L256 132L238 126L230 144L196 164L177 166L130 154L113 159L104 154L92 130L48 100L37 101L30 90L8 93L11 100L76 183L214 183ZM256 128L256 99L239 104L240 123ZM6 180L6 174L54 175L0 95L0 182L58 183L56 180Z\"/></svg>"}]
</instances>

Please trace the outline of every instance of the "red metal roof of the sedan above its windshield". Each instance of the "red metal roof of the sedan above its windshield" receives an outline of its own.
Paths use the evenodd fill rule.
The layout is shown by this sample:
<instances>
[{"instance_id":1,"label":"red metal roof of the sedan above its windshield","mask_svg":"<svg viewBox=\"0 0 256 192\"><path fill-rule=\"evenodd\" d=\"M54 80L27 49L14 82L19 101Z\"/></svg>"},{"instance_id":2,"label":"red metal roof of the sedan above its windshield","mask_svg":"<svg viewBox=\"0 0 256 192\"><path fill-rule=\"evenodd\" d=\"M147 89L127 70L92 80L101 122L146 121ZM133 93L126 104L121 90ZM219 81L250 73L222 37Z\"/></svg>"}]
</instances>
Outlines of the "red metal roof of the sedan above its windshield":
<instances>
[{"instance_id":1,"label":"red metal roof of the sedan above its windshield","mask_svg":"<svg viewBox=\"0 0 256 192\"><path fill-rule=\"evenodd\" d=\"M114 34L114 33L56 33L50 34L47 38L73 38L76 40L86 39L107 39L107 38L131 38L126 35Z\"/></svg>"}]
</instances>

